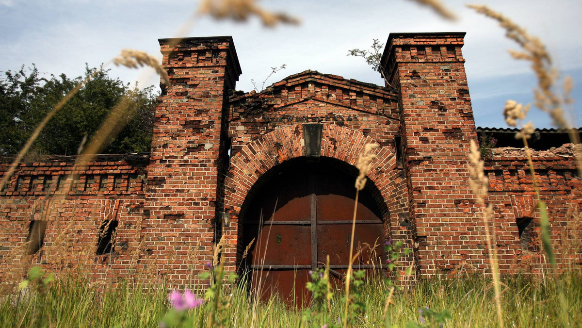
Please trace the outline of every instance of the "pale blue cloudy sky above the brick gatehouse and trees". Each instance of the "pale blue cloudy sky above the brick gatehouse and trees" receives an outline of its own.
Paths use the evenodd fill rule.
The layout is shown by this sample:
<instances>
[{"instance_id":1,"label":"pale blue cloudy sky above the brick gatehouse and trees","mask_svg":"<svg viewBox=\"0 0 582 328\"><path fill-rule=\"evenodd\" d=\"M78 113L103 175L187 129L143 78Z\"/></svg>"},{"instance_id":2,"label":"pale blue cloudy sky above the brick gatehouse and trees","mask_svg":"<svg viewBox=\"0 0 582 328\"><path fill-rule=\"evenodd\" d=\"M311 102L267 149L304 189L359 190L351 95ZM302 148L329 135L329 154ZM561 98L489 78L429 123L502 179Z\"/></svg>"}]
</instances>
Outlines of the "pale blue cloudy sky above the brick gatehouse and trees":
<instances>
[{"instance_id":1,"label":"pale blue cloudy sky above the brick gatehouse and trees","mask_svg":"<svg viewBox=\"0 0 582 328\"><path fill-rule=\"evenodd\" d=\"M526 62L512 59L516 49L491 19L464 8L469 1L443 1L460 16L440 19L430 9L407 0L281 1L260 4L301 19L299 26L265 29L256 20L246 23L203 17L185 36L233 36L243 75L237 89L253 89L271 66L286 64L267 84L306 69L382 84L377 72L347 50L365 48L372 38L384 42L391 32L466 31L463 55L478 126L505 127L505 101L532 101L535 77ZM582 1L482 1L512 17L548 46L556 67L574 77L575 99L582 98ZM0 0L0 70L34 63L41 72L78 76L85 63L98 66L123 48L159 55L158 38L175 37L176 30L197 8L197 1L162 0ZM126 82L140 72L112 67L111 75ZM140 81L158 84L159 77ZM573 105L576 108L578 105ZM572 110L574 110L572 108ZM582 111L573 114L575 125ZM535 108L528 115L539 128L550 128L548 116Z\"/></svg>"}]
</instances>

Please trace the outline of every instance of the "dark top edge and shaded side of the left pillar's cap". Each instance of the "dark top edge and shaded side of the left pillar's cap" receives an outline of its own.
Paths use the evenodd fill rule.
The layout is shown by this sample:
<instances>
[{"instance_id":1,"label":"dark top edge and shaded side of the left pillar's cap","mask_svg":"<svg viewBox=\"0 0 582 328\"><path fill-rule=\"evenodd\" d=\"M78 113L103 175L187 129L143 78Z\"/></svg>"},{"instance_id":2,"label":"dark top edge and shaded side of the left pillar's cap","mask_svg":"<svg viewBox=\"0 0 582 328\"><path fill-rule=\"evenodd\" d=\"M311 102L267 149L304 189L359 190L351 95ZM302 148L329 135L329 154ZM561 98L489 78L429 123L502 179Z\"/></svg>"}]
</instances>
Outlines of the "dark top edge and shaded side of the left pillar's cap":
<instances>
[{"instance_id":1,"label":"dark top edge and shaded side of the left pillar's cap","mask_svg":"<svg viewBox=\"0 0 582 328\"><path fill-rule=\"evenodd\" d=\"M210 47L213 43L228 43L228 65L233 68L233 74L236 80L239 80L239 76L242 74L242 69L240 69L239 57L236 54L235 41L233 41L232 36L214 36L214 37L184 37L184 38L159 38L159 45L175 44L172 50L162 50L172 52L178 48L200 48L200 47Z\"/></svg>"}]
</instances>

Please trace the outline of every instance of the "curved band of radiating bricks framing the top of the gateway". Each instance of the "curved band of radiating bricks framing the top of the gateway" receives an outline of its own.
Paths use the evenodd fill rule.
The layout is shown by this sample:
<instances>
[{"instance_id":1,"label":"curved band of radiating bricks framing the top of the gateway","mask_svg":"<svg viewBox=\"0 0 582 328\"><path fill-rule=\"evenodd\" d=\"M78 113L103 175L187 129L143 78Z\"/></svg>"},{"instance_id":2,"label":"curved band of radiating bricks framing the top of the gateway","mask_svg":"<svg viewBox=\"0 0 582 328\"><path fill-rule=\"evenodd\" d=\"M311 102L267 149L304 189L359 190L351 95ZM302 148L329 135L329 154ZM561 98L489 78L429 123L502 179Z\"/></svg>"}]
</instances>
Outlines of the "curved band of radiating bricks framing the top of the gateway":
<instances>
[{"instance_id":1,"label":"curved band of radiating bricks framing the top of the gateway","mask_svg":"<svg viewBox=\"0 0 582 328\"><path fill-rule=\"evenodd\" d=\"M251 188L267 171L291 158L305 155L303 125L290 125L265 133L247 143L230 162L231 170L225 178L224 208L229 214L229 225L223 229L226 235L225 253L229 265L235 269L237 240L239 239L239 213ZM335 124L323 124L321 156L335 158L356 165L365 144L379 144L364 133ZM388 147L380 144L375 151L377 158L372 163L368 178L375 185L385 202L386 209L395 206L395 183L399 170L396 157ZM384 220L387 221L387 216ZM386 223L387 224L387 223Z\"/></svg>"}]
</instances>

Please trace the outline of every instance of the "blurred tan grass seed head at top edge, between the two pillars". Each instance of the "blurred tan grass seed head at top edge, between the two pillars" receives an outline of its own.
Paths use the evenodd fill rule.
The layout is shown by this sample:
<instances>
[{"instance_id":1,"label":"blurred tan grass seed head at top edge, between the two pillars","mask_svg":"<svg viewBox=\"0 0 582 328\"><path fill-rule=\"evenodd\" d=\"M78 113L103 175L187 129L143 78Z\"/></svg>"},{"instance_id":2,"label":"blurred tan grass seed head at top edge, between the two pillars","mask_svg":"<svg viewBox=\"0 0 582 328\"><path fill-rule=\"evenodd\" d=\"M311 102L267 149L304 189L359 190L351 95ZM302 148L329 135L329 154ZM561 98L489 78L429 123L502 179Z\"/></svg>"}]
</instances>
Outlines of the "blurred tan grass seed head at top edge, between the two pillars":
<instances>
[{"instance_id":1,"label":"blurred tan grass seed head at top edge, between the two pillars","mask_svg":"<svg viewBox=\"0 0 582 328\"><path fill-rule=\"evenodd\" d=\"M299 19L282 12L269 12L257 5L257 0L203 0L198 12L215 19L230 18L244 22L250 16L257 16L264 26L273 27L278 23L299 24Z\"/></svg>"}]
</instances>

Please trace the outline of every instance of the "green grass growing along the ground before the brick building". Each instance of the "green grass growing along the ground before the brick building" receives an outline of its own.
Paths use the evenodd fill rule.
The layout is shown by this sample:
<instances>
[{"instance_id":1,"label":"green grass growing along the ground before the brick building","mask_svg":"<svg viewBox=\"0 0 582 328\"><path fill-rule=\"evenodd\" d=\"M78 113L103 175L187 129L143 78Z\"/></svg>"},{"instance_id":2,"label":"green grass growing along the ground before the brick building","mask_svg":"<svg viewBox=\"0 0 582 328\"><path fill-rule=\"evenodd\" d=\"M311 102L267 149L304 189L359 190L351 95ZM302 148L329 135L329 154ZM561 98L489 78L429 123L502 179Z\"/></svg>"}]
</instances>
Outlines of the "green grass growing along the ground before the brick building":
<instances>
[{"instance_id":1,"label":"green grass growing along the ground before the brick building","mask_svg":"<svg viewBox=\"0 0 582 328\"><path fill-rule=\"evenodd\" d=\"M580 273L562 276L567 313L572 326L582 326L582 277ZM533 281L526 276L503 280L503 317L512 327L559 327L560 302L551 280ZM198 295L204 292L200 288ZM362 300L365 312L357 318L358 326L385 327L382 312L386 302L381 282L365 285ZM232 292L232 297L230 293ZM278 299L253 302L242 290L225 292L230 306L218 313L228 327L320 327L323 323L301 322L303 310L288 309ZM120 283L115 288L100 291L98 285L84 278L61 277L44 292L31 286L21 294L6 296L0 303L2 327L158 327L168 312L164 287ZM389 307L392 325L404 327L420 322L418 310L429 306L435 311L447 309L451 315L449 327L495 327L494 291L490 282L480 277L453 280L420 281L414 288L399 291ZM329 318L342 313L339 296L332 301ZM194 326L205 327L210 315L208 303L190 310L187 316Z\"/></svg>"}]
</instances>

